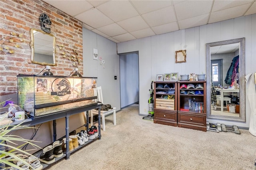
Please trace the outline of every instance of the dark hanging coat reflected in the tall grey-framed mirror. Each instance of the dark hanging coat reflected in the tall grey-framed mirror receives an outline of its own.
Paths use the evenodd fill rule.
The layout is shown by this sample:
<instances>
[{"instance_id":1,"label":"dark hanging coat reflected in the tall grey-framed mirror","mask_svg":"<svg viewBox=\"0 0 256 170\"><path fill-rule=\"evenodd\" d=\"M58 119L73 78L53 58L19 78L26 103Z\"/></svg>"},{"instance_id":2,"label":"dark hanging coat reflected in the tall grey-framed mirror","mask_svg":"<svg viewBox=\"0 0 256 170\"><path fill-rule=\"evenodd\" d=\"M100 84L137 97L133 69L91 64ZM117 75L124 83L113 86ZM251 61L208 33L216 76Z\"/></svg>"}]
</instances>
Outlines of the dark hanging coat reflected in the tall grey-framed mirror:
<instances>
[{"instance_id":1,"label":"dark hanging coat reflected in the tall grey-framed mirror","mask_svg":"<svg viewBox=\"0 0 256 170\"><path fill-rule=\"evenodd\" d=\"M232 63L228 69L226 78L225 78L225 83L228 85L231 85L232 82L234 82L234 78L236 73L239 73L239 55L234 57L232 59Z\"/></svg>"}]
</instances>

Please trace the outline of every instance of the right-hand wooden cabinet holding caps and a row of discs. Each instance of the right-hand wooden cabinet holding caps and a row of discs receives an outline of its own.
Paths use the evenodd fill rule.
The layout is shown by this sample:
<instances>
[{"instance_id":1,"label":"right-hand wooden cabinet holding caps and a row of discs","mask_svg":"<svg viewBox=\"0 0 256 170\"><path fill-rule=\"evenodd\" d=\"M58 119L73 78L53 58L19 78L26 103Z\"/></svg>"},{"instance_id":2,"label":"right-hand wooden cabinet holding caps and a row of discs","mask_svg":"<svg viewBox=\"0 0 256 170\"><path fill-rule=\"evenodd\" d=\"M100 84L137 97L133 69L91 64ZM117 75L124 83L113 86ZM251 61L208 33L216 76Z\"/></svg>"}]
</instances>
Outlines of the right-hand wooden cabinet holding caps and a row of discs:
<instances>
[{"instance_id":1,"label":"right-hand wooden cabinet holding caps and a row of discs","mask_svg":"<svg viewBox=\"0 0 256 170\"><path fill-rule=\"evenodd\" d=\"M178 81L178 127L206 132L206 81Z\"/></svg>"}]
</instances>

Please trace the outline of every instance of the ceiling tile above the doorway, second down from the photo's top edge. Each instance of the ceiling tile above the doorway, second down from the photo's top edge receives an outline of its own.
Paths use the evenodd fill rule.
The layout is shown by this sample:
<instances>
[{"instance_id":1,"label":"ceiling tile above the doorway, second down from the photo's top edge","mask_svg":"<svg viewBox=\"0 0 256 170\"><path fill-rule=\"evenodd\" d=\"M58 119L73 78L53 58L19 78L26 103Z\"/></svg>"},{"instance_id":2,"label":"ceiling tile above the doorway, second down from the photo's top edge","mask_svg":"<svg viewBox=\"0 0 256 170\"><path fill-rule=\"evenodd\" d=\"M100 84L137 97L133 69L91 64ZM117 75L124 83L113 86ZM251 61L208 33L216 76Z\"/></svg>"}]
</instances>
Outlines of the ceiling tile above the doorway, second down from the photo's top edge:
<instances>
[{"instance_id":1,"label":"ceiling tile above the doorway, second down from the photo's top edge","mask_svg":"<svg viewBox=\"0 0 256 170\"><path fill-rule=\"evenodd\" d=\"M149 28L148 24L142 19L141 16L135 16L127 20L122 20L117 22L117 24L128 32Z\"/></svg>"}]
</instances>

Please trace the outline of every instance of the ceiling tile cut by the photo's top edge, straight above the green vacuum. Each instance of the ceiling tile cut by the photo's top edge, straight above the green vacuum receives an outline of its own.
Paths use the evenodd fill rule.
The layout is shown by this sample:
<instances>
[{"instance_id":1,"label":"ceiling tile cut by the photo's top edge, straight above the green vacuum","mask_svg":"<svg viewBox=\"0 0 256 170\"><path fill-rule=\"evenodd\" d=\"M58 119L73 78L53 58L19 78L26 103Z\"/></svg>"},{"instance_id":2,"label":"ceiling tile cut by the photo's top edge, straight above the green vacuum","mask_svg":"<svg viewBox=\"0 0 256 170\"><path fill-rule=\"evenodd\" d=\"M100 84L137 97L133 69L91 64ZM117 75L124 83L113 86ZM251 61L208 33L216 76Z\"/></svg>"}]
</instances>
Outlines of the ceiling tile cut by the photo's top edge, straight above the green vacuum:
<instances>
[{"instance_id":1,"label":"ceiling tile cut by the photo's top edge, straight above the green vacuum","mask_svg":"<svg viewBox=\"0 0 256 170\"><path fill-rule=\"evenodd\" d=\"M132 0L131 2L140 14L145 14L172 5L170 0Z\"/></svg>"}]
</instances>

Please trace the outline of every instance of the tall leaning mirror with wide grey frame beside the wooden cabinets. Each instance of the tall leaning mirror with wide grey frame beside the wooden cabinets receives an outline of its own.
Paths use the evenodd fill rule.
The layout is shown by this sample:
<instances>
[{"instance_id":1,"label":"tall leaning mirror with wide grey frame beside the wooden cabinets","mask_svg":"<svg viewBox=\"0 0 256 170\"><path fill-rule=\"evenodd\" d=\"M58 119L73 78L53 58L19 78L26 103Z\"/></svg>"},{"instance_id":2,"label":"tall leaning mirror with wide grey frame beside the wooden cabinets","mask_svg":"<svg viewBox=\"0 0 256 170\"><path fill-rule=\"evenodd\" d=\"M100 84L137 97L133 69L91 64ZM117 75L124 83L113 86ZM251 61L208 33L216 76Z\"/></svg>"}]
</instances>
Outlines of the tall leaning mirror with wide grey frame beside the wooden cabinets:
<instances>
[{"instance_id":1,"label":"tall leaning mirror with wide grey frame beside the wooden cabinets","mask_svg":"<svg viewBox=\"0 0 256 170\"><path fill-rule=\"evenodd\" d=\"M245 122L244 38L206 43L207 118Z\"/></svg>"}]
</instances>

